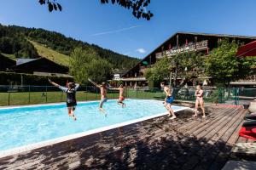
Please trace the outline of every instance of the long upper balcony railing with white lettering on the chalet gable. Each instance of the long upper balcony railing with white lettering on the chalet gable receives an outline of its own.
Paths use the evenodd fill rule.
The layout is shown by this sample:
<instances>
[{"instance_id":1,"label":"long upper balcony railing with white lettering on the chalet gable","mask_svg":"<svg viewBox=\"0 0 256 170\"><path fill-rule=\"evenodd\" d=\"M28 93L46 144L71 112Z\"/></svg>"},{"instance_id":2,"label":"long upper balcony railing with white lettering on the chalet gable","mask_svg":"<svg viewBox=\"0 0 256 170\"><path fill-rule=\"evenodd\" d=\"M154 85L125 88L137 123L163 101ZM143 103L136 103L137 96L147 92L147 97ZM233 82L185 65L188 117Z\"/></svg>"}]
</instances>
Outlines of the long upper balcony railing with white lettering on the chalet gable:
<instances>
[{"instance_id":1,"label":"long upper balcony railing with white lettering on the chalet gable","mask_svg":"<svg viewBox=\"0 0 256 170\"><path fill-rule=\"evenodd\" d=\"M196 42L193 44L188 44L187 46L183 46L180 48L172 48L166 51L155 54L156 58L161 58L163 56L172 57L173 55L180 53L189 53L192 51L202 51L208 48L208 40L204 40L201 42Z\"/></svg>"}]
</instances>

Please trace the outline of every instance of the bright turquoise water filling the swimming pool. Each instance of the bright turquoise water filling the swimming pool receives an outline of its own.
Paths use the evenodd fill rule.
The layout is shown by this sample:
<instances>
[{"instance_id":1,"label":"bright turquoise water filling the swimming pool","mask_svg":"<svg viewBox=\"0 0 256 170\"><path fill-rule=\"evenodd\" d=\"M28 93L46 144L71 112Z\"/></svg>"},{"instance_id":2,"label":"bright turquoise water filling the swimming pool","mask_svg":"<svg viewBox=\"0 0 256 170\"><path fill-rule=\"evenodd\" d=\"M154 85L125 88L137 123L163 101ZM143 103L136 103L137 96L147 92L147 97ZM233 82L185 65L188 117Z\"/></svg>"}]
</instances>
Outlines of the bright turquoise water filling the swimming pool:
<instances>
[{"instance_id":1,"label":"bright turquoise water filling the swimming pool","mask_svg":"<svg viewBox=\"0 0 256 170\"><path fill-rule=\"evenodd\" d=\"M126 107L108 100L103 105L108 116L97 110L99 102L79 103L75 111L78 120L67 116L65 104L23 106L0 109L0 150L9 150L26 144L81 133L98 127L107 127L166 112L161 101L126 99ZM175 111L181 109L172 106Z\"/></svg>"}]
</instances>

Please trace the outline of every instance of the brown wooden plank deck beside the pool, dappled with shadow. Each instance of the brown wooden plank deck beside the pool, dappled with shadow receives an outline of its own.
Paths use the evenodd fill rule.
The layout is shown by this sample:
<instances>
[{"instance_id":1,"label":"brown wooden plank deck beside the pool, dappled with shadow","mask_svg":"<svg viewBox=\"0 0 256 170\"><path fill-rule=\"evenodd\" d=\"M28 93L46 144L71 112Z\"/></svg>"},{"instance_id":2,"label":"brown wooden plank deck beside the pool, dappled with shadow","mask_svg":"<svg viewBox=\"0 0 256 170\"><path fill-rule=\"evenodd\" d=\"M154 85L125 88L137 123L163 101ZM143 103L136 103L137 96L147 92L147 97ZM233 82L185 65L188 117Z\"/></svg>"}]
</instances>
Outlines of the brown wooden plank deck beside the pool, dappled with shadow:
<instances>
[{"instance_id":1,"label":"brown wooden plank deck beside the pool, dappled with shadow","mask_svg":"<svg viewBox=\"0 0 256 170\"><path fill-rule=\"evenodd\" d=\"M155 118L108 132L0 158L0 169L221 169L238 136L241 108L207 106L207 118L180 111L177 120Z\"/></svg>"}]
</instances>

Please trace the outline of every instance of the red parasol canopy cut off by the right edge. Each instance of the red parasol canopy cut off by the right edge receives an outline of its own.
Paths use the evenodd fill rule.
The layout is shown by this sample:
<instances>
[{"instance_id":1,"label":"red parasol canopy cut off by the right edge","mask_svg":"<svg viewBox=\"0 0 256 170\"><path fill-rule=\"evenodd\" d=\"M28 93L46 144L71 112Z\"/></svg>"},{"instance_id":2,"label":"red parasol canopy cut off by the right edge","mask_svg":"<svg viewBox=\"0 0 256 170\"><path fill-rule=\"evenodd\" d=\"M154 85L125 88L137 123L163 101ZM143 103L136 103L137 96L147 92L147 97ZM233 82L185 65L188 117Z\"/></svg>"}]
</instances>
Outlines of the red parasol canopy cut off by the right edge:
<instances>
[{"instance_id":1,"label":"red parasol canopy cut off by the right edge","mask_svg":"<svg viewBox=\"0 0 256 170\"><path fill-rule=\"evenodd\" d=\"M247 43L238 48L237 57L256 56L256 41Z\"/></svg>"}]
</instances>

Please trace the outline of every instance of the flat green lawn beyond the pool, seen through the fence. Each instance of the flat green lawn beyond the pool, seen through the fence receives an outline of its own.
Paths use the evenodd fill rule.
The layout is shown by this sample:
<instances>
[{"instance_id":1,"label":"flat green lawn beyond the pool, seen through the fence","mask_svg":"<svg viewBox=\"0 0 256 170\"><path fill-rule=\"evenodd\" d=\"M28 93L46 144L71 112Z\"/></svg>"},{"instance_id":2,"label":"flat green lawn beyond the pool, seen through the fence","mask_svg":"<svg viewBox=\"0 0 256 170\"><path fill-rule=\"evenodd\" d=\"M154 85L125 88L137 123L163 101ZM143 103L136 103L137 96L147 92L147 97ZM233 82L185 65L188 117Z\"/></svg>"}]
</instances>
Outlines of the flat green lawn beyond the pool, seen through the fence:
<instances>
[{"instance_id":1,"label":"flat green lawn beyond the pool, seen through the fence","mask_svg":"<svg viewBox=\"0 0 256 170\"><path fill-rule=\"evenodd\" d=\"M163 99L163 93L150 93L136 90L126 90L126 98L137 99ZM78 91L76 94L78 101L86 100L99 100L101 98L99 93L89 93L84 91ZM118 99L119 93L109 92L108 99ZM61 91L55 92L15 92L15 93L0 93L0 105L31 105L31 104L45 104L45 103L57 103L65 102L66 94Z\"/></svg>"}]
</instances>

